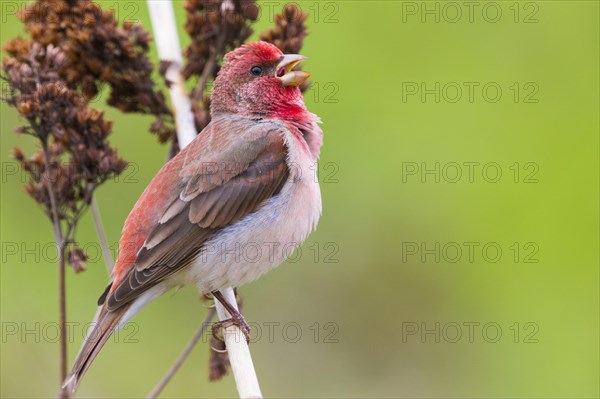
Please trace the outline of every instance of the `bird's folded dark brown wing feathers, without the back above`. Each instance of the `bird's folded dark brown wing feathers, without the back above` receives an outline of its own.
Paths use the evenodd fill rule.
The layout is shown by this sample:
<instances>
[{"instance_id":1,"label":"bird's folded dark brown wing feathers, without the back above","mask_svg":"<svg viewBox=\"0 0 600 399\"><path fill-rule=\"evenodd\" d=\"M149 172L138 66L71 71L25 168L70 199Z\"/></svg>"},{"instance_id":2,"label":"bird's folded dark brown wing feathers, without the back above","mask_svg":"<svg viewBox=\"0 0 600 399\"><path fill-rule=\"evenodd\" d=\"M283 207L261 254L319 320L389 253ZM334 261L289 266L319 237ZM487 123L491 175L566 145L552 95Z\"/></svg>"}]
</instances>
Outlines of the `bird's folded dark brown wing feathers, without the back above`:
<instances>
[{"instance_id":1,"label":"bird's folded dark brown wing feathers, without the back above","mask_svg":"<svg viewBox=\"0 0 600 399\"><path fill-rule=\"evenodd\" d=\"M251 152L256 152L257 142L262 146L257 156L243 171L221 184L215 184L213 178L211 188L206 190L190 185L205 185L202 176L182 180L181 196L167 207L148 235L135 267L108 295L109 309L131 302L190 264L215 233L256 211L281 191L289 176L283 137L278 131L267 132L253 142Z\"/></svg>"}]
</instances>

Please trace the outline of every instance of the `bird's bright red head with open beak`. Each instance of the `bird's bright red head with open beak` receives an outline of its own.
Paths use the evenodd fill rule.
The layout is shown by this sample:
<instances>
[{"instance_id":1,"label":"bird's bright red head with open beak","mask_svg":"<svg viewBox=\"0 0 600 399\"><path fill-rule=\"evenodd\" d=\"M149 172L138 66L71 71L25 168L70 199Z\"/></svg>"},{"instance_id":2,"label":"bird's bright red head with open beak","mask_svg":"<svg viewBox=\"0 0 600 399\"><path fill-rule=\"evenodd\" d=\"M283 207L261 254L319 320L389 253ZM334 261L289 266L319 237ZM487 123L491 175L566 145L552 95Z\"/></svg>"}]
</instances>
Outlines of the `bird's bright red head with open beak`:
<instances>
[{"instance_id":1,"label":"bird's bright red head with open beak","mask_svg":"<svg viewBox=\"0 0 600 399\"><path fill-rule=\"evenodd\" d=\"M248 43L225 55L211 99L213 116L296 119L306 112L300 86L308 72L293 68L306 57L283 54L267 42Z\"/></svg>"}]
</instances>

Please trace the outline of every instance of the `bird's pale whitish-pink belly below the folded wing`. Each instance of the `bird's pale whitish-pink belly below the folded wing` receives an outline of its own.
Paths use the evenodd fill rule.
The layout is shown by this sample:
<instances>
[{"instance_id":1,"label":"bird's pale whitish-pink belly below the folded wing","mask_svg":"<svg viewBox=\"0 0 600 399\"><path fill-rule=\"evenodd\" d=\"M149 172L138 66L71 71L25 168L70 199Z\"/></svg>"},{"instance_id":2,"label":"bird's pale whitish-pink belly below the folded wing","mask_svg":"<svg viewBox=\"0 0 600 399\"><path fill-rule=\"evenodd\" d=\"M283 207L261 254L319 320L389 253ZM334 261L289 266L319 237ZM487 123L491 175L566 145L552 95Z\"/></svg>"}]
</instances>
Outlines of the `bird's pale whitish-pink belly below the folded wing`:
<instances>
[{"instance_id":1,"label":"bird's pale whitish-pink belly below the folded wing","mask_svg":"<svg viewBox=\"0 0 600 399\"><path fill-rule=\"evenodd\" d=\"M170 283L193 283L203 293L239 287L291 256L321 215L314 170L308 162L302 164L295 163L300 166L277 196L207 241L202 253Z\"/></svg>"}]
</instances>

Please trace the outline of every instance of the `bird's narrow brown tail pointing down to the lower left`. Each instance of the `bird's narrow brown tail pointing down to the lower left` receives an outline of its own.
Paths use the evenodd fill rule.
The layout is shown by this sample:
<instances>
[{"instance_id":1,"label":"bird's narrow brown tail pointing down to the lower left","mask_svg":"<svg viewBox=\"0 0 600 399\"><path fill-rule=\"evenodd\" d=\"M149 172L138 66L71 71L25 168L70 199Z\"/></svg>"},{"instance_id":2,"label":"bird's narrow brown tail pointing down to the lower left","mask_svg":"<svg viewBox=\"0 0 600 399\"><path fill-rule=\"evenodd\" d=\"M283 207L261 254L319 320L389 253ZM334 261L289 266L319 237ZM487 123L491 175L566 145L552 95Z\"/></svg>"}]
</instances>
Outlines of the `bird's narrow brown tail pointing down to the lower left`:
<instances>
[{"instance_id":1,"label":"bird's narrow brown tail pointing down to the lower left","mask_svg":"<svg viewBox=\"0 0 600 399\"><path fill-rule=\"evenodd\" d=\"M92 332L85 339L71 373L63 383L63 389L70 393L75 392L81 378L98 355L98 352L100 352L100 349L112 333L120 327L121 321L124 321L122 319L128 309L129 305L115 310L108 310L106 305L100 307L94 319Z\"/></svg>"}]
</instances>

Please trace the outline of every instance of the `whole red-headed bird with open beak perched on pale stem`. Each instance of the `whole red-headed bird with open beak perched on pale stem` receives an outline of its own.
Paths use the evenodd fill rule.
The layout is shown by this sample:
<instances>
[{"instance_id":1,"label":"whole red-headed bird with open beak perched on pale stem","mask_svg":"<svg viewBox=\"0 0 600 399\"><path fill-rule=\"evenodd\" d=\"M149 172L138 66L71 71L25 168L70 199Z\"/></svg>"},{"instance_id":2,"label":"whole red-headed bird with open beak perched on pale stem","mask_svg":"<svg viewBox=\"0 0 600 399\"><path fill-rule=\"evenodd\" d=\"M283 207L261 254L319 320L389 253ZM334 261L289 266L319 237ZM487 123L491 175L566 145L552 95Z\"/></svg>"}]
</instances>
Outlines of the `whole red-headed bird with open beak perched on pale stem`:
<instances>
[{"instance_id":1,"label":"whole red-headed bird with open beak perched on pale stem","mask_svg":"<svg viewBox=\"0 0 600 399\"><path fill-rule=\"evenodd\" d=\"M273 269L316 227L323 133L298 87L310 74L293 70L304 59L266 42L225 56L212 121L164 165L125 221L112 283L66 389L77 388L110 335L148 302L187 284L223 302L219 290ZM249 245L260 249L251 262L243 256ZM230 313L247 334L241 315Z\"/></svg>"}]
</instances>

